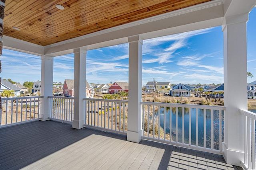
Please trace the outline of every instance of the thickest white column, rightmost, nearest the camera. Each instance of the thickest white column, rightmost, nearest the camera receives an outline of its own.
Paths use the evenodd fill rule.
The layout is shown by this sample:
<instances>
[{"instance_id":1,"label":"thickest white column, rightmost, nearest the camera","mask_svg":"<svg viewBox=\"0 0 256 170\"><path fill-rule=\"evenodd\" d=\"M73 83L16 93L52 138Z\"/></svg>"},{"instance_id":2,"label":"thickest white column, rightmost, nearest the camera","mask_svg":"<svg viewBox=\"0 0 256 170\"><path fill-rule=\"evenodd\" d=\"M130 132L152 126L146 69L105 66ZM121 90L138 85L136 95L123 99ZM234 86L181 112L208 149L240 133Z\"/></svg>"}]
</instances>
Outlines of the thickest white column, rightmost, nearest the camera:
<instances>
[{"instance_id":1,"label":"thickest white column, rightmost, nearest the camera","mask_svg":"<svg viewBox=\"0 0 256 170\"><path fill-rule=\"evenodd\" d=\"M238 109L247 109L248 14L226 17L224 35L224 158L228 164L240 166L244 160L244 121Z\"/></svg>"}]
</instances>

